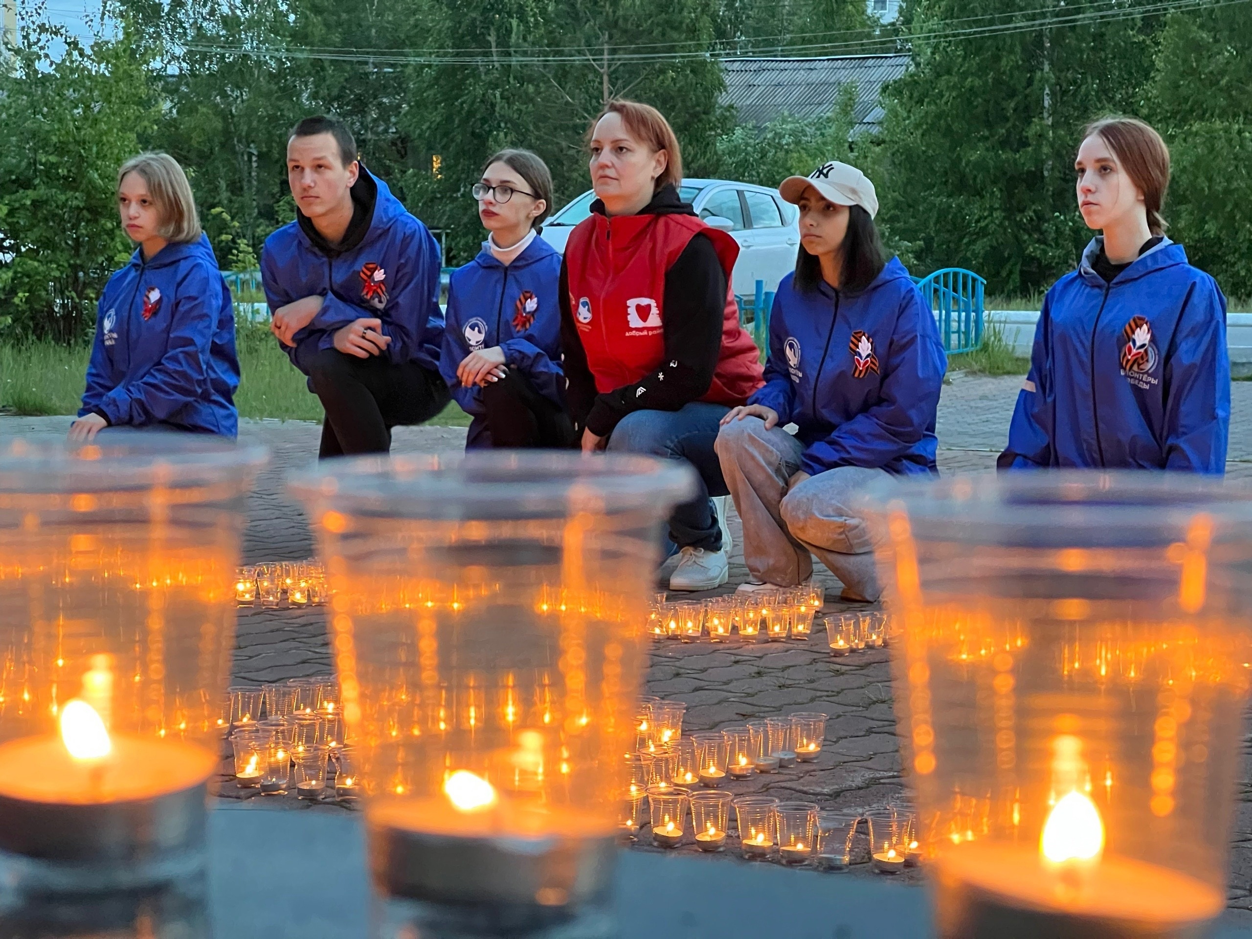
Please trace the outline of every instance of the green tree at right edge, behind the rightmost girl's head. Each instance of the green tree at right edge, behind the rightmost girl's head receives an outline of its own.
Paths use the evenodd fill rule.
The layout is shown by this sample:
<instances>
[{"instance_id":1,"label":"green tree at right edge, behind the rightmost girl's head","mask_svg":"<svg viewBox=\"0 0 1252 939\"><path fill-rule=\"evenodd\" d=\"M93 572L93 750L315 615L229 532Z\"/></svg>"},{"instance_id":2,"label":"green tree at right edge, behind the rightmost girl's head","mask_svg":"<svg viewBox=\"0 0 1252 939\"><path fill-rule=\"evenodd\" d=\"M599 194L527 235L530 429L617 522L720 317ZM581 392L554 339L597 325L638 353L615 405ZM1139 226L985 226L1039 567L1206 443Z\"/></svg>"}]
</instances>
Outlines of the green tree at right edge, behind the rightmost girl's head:
<instances>
[{"instance_id":1,"label":"green tree at right edge, behind the rightmost girl's head","mask_svg":"<svg viewBox=\"0 0 1252 939\"><path fill-rule=\"evenodd\" d=\"M1193 264L1252 297L1252 16L1238 6L1174 14L1152 84L1173 158L1166 218Z\"/></svg>"}]
</instances>

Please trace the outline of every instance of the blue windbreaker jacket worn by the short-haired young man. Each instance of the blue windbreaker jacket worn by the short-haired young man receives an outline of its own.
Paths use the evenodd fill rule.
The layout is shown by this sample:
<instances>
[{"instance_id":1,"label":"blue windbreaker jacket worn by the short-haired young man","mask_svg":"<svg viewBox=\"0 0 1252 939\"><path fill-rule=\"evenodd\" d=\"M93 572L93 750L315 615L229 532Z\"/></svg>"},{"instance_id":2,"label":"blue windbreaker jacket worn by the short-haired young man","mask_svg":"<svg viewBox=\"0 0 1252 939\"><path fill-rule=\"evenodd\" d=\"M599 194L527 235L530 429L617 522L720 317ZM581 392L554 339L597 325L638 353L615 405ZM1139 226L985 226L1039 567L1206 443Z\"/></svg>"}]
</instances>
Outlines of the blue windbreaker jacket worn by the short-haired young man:
<instances>
[{"instance_id":1,"label":"blue windbreaker jacket worn by the short-haired young man","mask_svg":"<svg viewBox=\"0 0 1252 939\"><path fill-rule=\"evenodd\" d=\"M362 174L368 170L362 167ZM439 309L439 245L387 184L378 187L369 230L356 248L328 258L300 229L283 225L265 239L260 275L270 314L303 297L324 297L313 322L283 346L292 363L308 374L302 356L334 348L334 332L363 317L382 321L391 337L392 362L417 362L437 369L443 312Z\"/></svg>"}]
</instances>

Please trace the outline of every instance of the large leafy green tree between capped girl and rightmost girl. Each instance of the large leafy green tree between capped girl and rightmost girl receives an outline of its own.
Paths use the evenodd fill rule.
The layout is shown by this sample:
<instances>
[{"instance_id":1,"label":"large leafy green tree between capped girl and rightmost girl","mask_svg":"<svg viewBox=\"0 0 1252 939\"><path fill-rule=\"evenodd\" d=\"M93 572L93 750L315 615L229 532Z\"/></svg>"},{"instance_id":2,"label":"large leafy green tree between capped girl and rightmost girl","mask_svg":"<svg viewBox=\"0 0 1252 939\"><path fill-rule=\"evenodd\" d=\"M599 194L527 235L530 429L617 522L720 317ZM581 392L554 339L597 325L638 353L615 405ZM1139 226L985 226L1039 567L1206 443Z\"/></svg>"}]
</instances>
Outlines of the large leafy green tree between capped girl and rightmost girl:
<instances>
[{"instance_id":1,"label":"large leafy green tree between capped girl and rightmost girl","mask_svg":"<svg viewBox=\"0 0 1252 939\"><path fill-rule=\"evenodd\" d=\"M1027 16L1037 9L1038 0L918 0L905 8L904 34L957 18L1037 19ZM885 225L915 252L915 273L960 265L992 290L1020 293L1073 267L1090 237L1070 170L1082 126L1142 111L1157 28L1084 20L914 46L914 68L886 90L874 182Z\"/></svg>"}]
</instances>

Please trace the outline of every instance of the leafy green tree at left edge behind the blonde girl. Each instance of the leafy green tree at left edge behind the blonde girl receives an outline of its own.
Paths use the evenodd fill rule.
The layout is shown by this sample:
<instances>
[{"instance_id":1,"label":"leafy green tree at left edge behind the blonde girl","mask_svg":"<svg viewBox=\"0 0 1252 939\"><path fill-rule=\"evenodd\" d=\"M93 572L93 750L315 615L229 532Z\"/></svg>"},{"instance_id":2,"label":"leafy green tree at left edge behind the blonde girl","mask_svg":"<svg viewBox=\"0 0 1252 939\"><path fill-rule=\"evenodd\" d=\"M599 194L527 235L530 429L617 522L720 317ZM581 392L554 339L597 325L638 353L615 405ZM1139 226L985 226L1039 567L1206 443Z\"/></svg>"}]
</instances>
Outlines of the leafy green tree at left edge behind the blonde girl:
<instances>
[{"instance_id":1,"label":"leafy green tree at left edge behind the blonde girl","mask_svg":"<svg viewBox=\"0 0 1252 939\"><path fill-rule=\"evenodd\" d=\"M126 23L89 44L46 21L23 24L14 70L0 75L5 338L90 334L100 290L130 253L116 173L156 123L153 54Z\"/></svg>"}]
</instances>

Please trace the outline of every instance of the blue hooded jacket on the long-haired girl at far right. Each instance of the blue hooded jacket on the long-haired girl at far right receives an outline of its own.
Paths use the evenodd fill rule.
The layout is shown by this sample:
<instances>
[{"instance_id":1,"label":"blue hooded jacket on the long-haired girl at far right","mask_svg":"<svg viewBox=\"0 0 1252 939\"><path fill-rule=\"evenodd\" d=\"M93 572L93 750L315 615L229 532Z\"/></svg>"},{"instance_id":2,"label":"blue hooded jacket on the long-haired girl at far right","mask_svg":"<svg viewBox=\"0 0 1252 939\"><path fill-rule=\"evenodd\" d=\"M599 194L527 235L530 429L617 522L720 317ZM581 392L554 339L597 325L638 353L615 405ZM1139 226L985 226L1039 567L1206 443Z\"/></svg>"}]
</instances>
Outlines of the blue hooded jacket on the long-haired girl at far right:
<instances>
[{"instance_id":1,"label":"blue hooded jacket on the long-haired girl at far right","mask_svg":"<svg viewBox=\"0 0 1252 939\"><path fill-rule=\"evenodd\" d=\"M1000 468L1226 471L1226 298L1164 239L1104 283L1102 239L1043 300Z\"/></svg>"}]
</instances>

